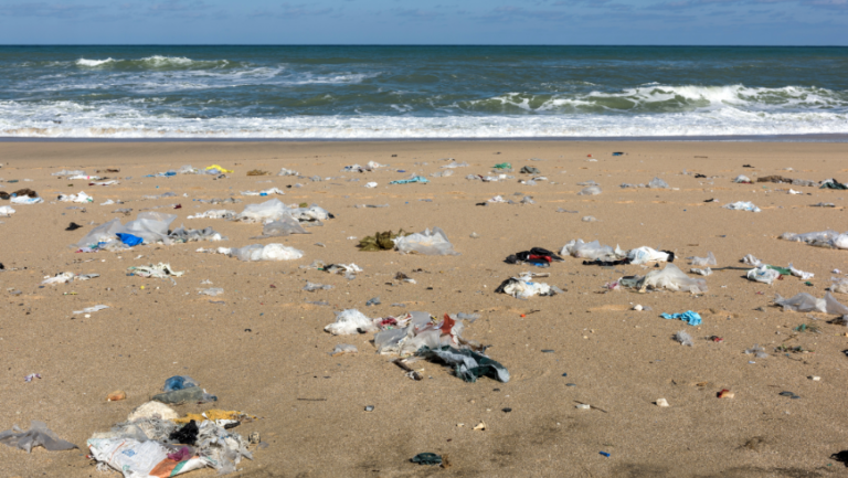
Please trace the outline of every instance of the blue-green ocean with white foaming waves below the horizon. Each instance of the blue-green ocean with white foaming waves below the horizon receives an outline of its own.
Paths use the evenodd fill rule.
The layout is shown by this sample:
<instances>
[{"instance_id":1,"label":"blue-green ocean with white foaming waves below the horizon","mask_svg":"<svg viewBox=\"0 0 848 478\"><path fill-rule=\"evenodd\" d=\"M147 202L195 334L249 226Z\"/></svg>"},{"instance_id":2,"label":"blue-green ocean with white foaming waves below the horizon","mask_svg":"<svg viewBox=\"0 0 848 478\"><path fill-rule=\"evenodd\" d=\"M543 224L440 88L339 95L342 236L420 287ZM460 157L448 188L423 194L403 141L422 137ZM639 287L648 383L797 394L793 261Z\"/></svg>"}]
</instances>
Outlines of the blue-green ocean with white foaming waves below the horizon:
<instances>
[{"instance_id":1,"label":"blue-green ocean with white foaming waves below the horizon","mask_svg":"<svg viewBox=\"0 0 848 478\"><path fill-rule=\"evenodd\" d=\"M0 137L848 137L848 47L0 46Z\"/></svg>"}]
</instances>

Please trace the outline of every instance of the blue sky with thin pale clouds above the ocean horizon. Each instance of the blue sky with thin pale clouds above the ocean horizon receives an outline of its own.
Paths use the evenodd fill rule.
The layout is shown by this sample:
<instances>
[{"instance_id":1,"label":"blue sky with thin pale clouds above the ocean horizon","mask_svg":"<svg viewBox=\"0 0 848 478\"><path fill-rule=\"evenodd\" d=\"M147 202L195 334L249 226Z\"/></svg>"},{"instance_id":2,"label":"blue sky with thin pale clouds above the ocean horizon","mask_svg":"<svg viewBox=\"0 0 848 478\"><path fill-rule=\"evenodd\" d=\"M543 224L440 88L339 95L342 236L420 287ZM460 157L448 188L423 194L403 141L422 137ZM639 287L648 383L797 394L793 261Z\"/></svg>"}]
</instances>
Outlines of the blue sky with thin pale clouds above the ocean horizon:
<instances>
[{"instance_id":1,"label":"blue sky with thin pale clouds above the ocean horizon","mask_svg":"<svg viewBox=\"0 0 848 478\"><path fill-rule=\"evenodd\" d=\"M848 45L848 0L0 0L0 44Z\"/></svg>"}]
</instances>

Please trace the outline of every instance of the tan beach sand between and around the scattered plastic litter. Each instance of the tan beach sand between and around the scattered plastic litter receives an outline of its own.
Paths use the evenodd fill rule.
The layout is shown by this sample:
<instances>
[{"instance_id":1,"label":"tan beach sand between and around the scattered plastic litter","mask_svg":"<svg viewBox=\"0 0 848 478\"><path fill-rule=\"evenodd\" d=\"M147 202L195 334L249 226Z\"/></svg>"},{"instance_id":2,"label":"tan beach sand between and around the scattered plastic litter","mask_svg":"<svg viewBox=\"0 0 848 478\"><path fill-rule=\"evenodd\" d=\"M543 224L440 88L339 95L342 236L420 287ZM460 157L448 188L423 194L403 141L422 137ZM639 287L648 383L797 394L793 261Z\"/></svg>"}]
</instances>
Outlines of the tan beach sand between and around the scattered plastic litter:
<instances>
[{"instance_id":1,"label":"tan beach sand between and around the scattered plastic litter","mask_svg":"<svg viewBox=\"0 0 848 478\"><path fill-rule=\"evenodd\" d=\"M0 476L92 477L98 472L86 459L85 440L107 431L127 413L158 393L165 379L188 374L219 396L215 407L241 410L262 417L236 428L258 431L268 446L254 461L242 461L244 477L396 477L396 476L577 476L577 477L818 477L845 474L830 455L848 449L845 404L848 328L826 323L819 314L783 312L774 294L825 294L830 272L848 272L848 252L810 247L778 240L780 234L846 230L848 191L785 184L734 184L749 177L783 174L824 180L848 178L846 145L762 142L4 142L0 144L0 178L7 191L32 188L44 204L17 205L0 224L0 350L3 357L2 423L29 425L40 419L82 450L31 455L0 447ZM627 156L612 157L613 151ZM587 155L597 161L587 161ZM396 157L394 157L396 155ZM449 178L428 184L389 185L412 172L430 177L445 162L467 161ZM528 158L543 161L528 161ZM369 160L390 167L369 173L340 172L346 164ZM549 181L537 185L513 180L483 183L465 179L486 173L497 162L516 170L533 166ZM218 163L235 169L226 179L210 176L145 178L145 174ZM752 164L754 168L743 168ZM305 177L333 179L312 182L293 177L246 177L252 169L276 174L280 168ZM60 169L120 168L120 184L88 187L85 181L51 177ZM786 171L785 168L793 168ZM405 173L395 170L403 169ZM714 179L696 179L682 171ZM125 179L131 177L131 179ZM674 190L623 190L623 182L647 183L654 177ZM359 179L349 182L348 179ZM31 179L32 182L24 182ZM577 182L594 180L596 196L576 195ZM364 183L377 181L377 189ZM286 189L295 183L303 188ZM73 183L73 187L68 185ZM240 191L285 189L286 203L317 203L336 214L310 235L252 241L262 227L223 220L187 220L219 209L193 200L240 196ZM56 203L60 192L85 191L94 203L68 210ZM176 192L179 198L142 201L142 195ZM520 192L521 195L513 196ZM188 198L182 194L187 193ZM531 195L533 205L476 206L496 194L507 199ZM717 198L718 203L704 203ZM107 199L125 205L99 205ZM226 206L266 198L242 198ZM426 201L425 201L426 200ZM728 211L721 205L753 201L761 213ZM834 202L836 209L810 208ZM242 263L223 255L195 253L210 243L137 246L131 253L77 254L68 244L116 216L117 208L136 213L157 205L181 203L176 213L191 227L213 226L243 246L282 242L305 252L300 261ZM390 204L386 209L354 209L354 204ZM0 205L8 204L0 201ZM579 213L558 213L558 208ZM594 215L600 222L582 222ZM64 229L71 221L84 225ZM398 252L365 253L350 236L375 231L445 230L460 256L432 257ZM479 238L469 234L476 232ZM813 287L786 277L768 287L749 282L742 270L707 277L709 293L632 291L602 294L602 286L622 275L645 274L642 266L583 266L566 258L554 264L547 280L566 289L555 297L518 300L494 294L501 280L529 270L504 263L532 246L559 251L581 237L622 248L648 245L685 257L712 251L719 266L739 266L745 254L777 265L789 262L815 273ZM324 243L325 247L316 246ZM137 255L144 255L136 259ZM364 273L348 282L298 266L314 259L356 263ZM170 280L126 275L134 265L170 263L183 277ZM414 269L424 272L413 273ZM44 276L60 272L97 273L99 278L39 288ZM539 269L536 269L538 272ZM403 272L416 285L390 285ZM223 287L220 297L198 295L201 282ZM306 293L306 280L336 286ZM275 288L271 286L274 285ZM141 290L140 287L145 286ZM431 289L432 288L432 289ZM13 296L10 290L23 294ZM75 295L71 294L75 293ZM762 294L761 294L762 293ZM365 308L380 296L381 306ZM837 295L848 302L848 296ZM211 304L223 300L224 305ZM326 300L329 307L307 305ZM403 302L405 309L391 307ZM108 310L91 318L73 310L105 304ZM650 306L636 312L633 305ZM763 307L764 310L756 310ZM358 308L371 317L403 310L479 311L465 336L490 346L489 355L511 372L509 383L481 379L465 383L447 368L423 362L425 379L414 382L374 353L371 336L332 337L324 327L333 311ZM703 325L690 327L664 320L660 312L699 311ZM530 312L533 314L530 314ZM522 317L522 314L526 317ZM814 323L820 334L797 333L799 323ZM678 330L695 338L695 347L671 339ZM707 340L720 336L722 343ZM338 343L352 343L356 355L330 357ZM743 350L763 344L771 357L753 359ZM814 353L774 352L786 343ZM542 350L553 350L543 353ZM754 361L756 363L750 363ZM24 383L28 373L43 379ZM564 374L568 374L565 376ZM814 382L809 375L819 375ZM576 386L566 386L574 383ZM125 390L128 400L107 403L107 393ZM719 400L722 389L735 399ZM801 396L791 400L780 392ZM655 405L665 397L668 408ZM309 399L309 401L301 400ZM577 402L601 410L576 410ZM374 405L372 413L364 412ZM505 413L504 408L511 408ZM182 413L205 410L183 405ZM486 431L473 431L480 422ZM457 426L465 424L465 426ZM449 469L417 466L418 453L447 454ZM598 452L611 454L605 457ZM118 476L113 472L112 476ZM187 476L214 476L213 470Z\"/></svg>"}]
</instances>

